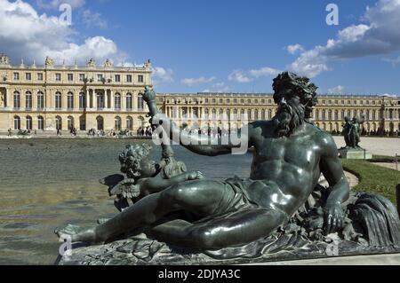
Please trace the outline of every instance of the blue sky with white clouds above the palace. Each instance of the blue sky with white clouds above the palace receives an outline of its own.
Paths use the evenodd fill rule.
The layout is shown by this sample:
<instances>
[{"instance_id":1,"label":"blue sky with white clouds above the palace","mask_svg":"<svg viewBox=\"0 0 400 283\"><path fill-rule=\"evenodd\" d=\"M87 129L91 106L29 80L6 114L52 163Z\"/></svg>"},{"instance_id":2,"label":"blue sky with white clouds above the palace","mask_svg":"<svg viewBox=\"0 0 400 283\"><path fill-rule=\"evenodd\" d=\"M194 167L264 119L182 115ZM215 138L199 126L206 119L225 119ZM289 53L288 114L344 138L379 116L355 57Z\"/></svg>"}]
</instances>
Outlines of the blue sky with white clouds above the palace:
<instances>
[{"instance_id":1,"label":"blue sky with white clouds above the palace","mask_svg":"<svg viewBox=\"0 0 400 283\"><path fill-rule=\"evenodd\" d=\"M52 19L65 2L73 8L72 26L63 28ZM338 26L326 24L330 3L339 7ZM59 63L94 57L100 64L109 57L129 66L151 59L159 92L269 92L276 73L291 70L311 76L323 93L400 93L400 0L0 0L1 5L8 22L25 22L13 33L0 31L0 51L16 63L22 57L43 61L44 54Z\"/></svg>"}]
</instances>

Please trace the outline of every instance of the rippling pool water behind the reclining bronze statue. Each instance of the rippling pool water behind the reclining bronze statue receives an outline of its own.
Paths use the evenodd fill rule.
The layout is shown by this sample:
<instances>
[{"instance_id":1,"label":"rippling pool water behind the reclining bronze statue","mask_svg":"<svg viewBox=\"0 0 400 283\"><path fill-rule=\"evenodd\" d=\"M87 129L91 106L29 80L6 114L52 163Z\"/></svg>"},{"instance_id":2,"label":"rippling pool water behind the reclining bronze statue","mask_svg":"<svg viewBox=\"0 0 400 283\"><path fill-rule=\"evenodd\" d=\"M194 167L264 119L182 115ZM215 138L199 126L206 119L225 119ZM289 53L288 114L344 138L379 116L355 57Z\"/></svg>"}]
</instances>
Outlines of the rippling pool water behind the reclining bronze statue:
<instances>
[{"instance_id":1,"label":"rippling pool water behind the reclining bronze statue","mask_svg":"<svg viewBox=\"0 0 400 283\"><path fill-rule=\"evenodd\" d=\"M99 179L119 172L122 139L0 139L0 264L52 264L65 224L93 224L116 214ZM161 151L154 146L153 158ZM205 157L179 146L175 155L206 177L249 177L251 154Z\"/></svg>"}]
</instances>

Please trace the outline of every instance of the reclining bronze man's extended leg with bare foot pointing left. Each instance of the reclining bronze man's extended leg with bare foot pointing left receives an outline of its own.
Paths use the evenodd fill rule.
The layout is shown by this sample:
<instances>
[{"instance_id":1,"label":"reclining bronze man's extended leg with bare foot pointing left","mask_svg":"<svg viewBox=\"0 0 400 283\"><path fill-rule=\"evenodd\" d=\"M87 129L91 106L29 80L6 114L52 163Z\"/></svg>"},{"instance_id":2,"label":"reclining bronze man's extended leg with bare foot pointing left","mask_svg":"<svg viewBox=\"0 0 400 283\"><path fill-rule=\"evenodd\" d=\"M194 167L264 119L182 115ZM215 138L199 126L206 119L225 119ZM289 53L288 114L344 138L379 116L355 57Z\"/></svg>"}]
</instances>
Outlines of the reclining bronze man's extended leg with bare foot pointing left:
<instances>
[{"instance_id":1,"label":"reclining bronze man's extended leg with bare foot pointing left","mask_svg":"<svg viewBox=\"0 0 400 283\"><path fill-rule=\"evenodd\" d=\"M125 209L108 222L72 236L73 241L104 242L125 232L147 227L163 216L186 210L198 216L210 216L226 197L222 182L196 180L172 187L160 193L150 194L132 207Z\"/></svg>"}]
</instances>

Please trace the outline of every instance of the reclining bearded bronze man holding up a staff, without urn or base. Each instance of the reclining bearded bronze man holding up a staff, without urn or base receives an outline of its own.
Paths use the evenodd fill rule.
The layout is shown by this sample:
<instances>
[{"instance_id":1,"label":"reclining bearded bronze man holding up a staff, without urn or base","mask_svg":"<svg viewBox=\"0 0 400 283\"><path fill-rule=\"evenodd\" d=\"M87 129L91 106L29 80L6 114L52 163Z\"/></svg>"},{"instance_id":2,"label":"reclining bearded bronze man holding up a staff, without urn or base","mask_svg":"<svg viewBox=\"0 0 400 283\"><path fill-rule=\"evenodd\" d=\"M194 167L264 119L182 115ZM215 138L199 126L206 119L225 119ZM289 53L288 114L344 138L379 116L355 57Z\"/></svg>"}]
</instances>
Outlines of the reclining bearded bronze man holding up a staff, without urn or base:
<instances>
[{"instance_id":1,"label":"reclining bearded bronze man holding up a staff, without urn or base","mask_svg":"<svg viewBox=\"0 0 400 283\"><path fill-rule=\"evenodd\" d=\"M321 173L330 185L323 208L324 232L335 232L343 225L341 204L348 200L349 187L332 137L308 121L316 106L316 85L284 72L273 87L276 116L272 121L252 122L240 132L240 138L254 147L250 178L214 181L198 179L202 176L196 173L165 181L155 178L156 164L133 158L132 164L140 164L140 179L144 178L135 180L140 185L135 189L140 200L104 224L88 229L67 227L57 231L59 236L101 243L139 229L157 240L188 248L244 245L287 224L313 193ZM232 142L222 145L212 137L186 137L186 131L157 114L154 91L148 89L143 98L154 123L161 124L166 133L193 141L181 143L188 150L216 156L239 146ZM191 217L167 217L178 212Z\"/></svg>"}]
</instances>

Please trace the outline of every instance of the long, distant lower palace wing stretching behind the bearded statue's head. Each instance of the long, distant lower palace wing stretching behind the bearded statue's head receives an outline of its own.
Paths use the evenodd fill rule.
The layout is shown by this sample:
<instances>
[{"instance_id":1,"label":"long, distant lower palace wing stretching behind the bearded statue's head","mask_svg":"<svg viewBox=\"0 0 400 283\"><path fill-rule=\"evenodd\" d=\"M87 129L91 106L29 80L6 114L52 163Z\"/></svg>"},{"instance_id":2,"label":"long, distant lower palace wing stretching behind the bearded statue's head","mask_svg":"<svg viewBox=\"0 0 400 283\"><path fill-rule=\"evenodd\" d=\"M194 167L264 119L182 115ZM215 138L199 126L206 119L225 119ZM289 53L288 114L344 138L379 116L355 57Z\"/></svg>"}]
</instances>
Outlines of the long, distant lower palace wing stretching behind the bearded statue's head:
<instances>
[{"instance_id":1,"label":"long, distant lower palace wing stretching behind the bearded statue's head","mask_svg":"<svg viewBox=\"0 0 400 283\"><path fill-rule=\"evenodd\" d=\"M164 94L157 99L162 111L174 122L190 126L196 123L200 128L237 128L243 122L270 120L276 114L276 104L268 93ZM400 131L400 97L319 95L313 121L323 130L339 132L346 116L362 115L367 132ZM200 121L196 117L201 117Z\"/></svg>"}]
</instances>

